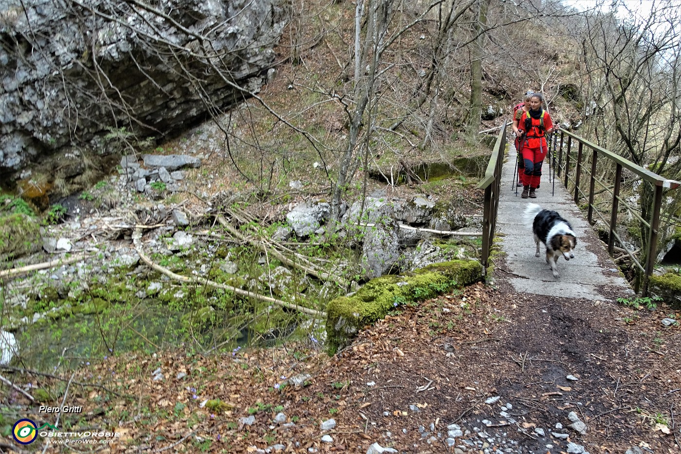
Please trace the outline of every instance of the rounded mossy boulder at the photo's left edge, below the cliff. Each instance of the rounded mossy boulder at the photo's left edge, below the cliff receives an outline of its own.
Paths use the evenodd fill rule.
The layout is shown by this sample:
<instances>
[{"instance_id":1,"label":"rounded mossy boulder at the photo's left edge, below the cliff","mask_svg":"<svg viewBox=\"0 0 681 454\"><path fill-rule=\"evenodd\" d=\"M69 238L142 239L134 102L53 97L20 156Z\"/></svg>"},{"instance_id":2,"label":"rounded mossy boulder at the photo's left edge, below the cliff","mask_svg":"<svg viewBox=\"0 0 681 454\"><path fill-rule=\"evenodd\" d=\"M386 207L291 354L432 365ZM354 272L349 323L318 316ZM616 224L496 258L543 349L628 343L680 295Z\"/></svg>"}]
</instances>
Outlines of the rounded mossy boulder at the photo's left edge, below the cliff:
<instances>
[{"instance_id":1,"label":"rounded mossy boulder at the photo's left edge, below the cliff","mask_svg":"<svg viewBox=\"0 0 681 454\"><path fill-rule=\"evenodd\" d=\"M0 217L0 262L40 249L40 227L33 217L12 213Z\"/></svg>"}]
</instances>

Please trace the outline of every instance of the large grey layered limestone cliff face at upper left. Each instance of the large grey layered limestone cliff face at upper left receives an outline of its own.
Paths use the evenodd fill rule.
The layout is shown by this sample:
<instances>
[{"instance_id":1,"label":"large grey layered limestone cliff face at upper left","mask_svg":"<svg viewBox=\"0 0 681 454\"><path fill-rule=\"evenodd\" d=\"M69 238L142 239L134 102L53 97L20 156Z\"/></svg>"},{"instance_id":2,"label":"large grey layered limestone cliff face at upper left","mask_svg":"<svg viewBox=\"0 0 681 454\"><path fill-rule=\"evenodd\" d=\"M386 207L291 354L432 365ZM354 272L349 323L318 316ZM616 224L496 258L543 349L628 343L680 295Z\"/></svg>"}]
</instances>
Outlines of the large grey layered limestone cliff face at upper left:
<instances>
[{"instance_id":1,"label":"large grey layered limestone cliff face at upper left","mask_svg":"<svg viewBox=\"0 0 681 454\"><path fill-rule=\"evenodd\" d=\"M280 0L0 0L0 174L111 130L155 136L257 91ZM233 85L234 84L234 85Z\"/></svg>"}]
</instances>

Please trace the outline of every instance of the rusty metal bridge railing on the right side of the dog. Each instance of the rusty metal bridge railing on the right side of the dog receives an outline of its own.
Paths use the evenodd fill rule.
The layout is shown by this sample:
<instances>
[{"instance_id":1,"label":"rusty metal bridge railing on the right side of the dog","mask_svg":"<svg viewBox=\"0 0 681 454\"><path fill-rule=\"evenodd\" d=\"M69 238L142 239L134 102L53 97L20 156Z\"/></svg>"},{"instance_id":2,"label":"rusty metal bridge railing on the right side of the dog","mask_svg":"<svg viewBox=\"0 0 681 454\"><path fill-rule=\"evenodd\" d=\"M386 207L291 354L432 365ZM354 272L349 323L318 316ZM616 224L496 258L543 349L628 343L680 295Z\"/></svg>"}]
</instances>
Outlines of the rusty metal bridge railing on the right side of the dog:
<instances>
[{"instance_id":1,"label":"rusty metal bridge railing on the right side of the dog","mask_svg":"<svg viewBox=\"0 0 681 454\"><path fill-rule=\"evenodd\" d=\"M622 251L626 252L627 255L631 258L632 262L635 264L637 269L644 275L643 279L643 288L642 288L642 294L646 296L648 293L648 277L652 274L652 270L655 264L655 259L657 256L657 241L658 241L658 235L659 235L659 227L660 227L660 211L662 208L662 195L663 195L663 190L665 188L668 189L676 189L681 185L680 182L674 181L674 180L669 180L665 179L664 177L661 177L657 175L654 172L651 172L650 170L646 170L645 168L642 168L641 166L637 166L637 164L634 164L633 162L624 159L624 157L621 157L619 155L616 155L615 153L612 153L612 151L608 151L604 148L599 147L598 145L595 145L592 142L589 142L585 138L582 138L580 136L576 136L575 134L564 130L563 128L558 128L558 131L554 133L554 140L557 139L558 132L560 133L560 145L558 147L555 146L553 147L552 153L553 156L553 171L558 172L558 177L560 177L560 180L565 188L568 190L568 192L571 192L569 184L572 183L573 185L573 198L575 200L575 204L579 205L580 200L582 198L588 199L588 214L587 214L587 220L589 224L593 225L595 224L593 220L594 214L598 215L600 217L601 221L607 226L608 228L608 243L607 243L607 251L610 254L610 256L613 255L614 249L615 249L615 241L619 243L620 247L622 248ZM565 143L565 139L567 138L567 144ZM498 141L498 140L497 140ZM574 150L573 150L573 142L576 142L577 144L577 156L574 156ZM563 160L564 153L563 153L563 148L564 145L567 145L565 147L565 160ZM584 147L587 149L591 150L591 166L590 170L584 171L582 168L582 160L583 160L583 155L584 155ZM556 157L556 153L558 156ZM596 166L597 162L599 160L599 157L605 160L609 160L610 162L613 162L615 164L615 176L614 176L614 181L607 182L607 181L602 181L597 175L596 175ZM575 160L574 164L571 163L571 160ZM491 160L490 160L491 164ZM625 200L623 200L620 197L620 182L622 181L622 168L626 168L633 172L635 175L638 175L643 179L644 181L648 181L651 185L654 186L655 188L655 194L654 194L654 201L652 205L652 209L650 210L650 219L649 220L644 220L642 217L642 213L640 209L637 209L636 207L631 207ZM489 167L488 167L489 169ZM573 174L571 175L571 172ZM582 191L582 188L580 187L580 179L582 177L582 173L585 173L585 177L589 178L589 190L588 194L586 194L584 191ZM554 181L556 179L556 176L554 174ZM607 222L605 220L605 217L598 211L597 207L594 205L594 195L595 195L595 185L596 183L599 184L600 187L603 188L604 191L609 192L609 194L612 196L612 207L610 211L610 220ZM609 184L610 183L610 184ZM612 189L611 189L611 184L612 184ZM602 191L601 191L602 192ZM487 198L485 198L485 206L487 206ZM650 234L648 237L648 250L646 252L646 263L641 264L639 260L636 259L634 256L634 252L631 252L628 248L627 245L624 244L624 241L620 238L620 236L617 234L615 231L615 227L617 225L617 214L618 210L620 208L620 204L622 207L626 208L631 215L633 215L639 222L642 222L644 226L650 230ZM495 211L496 214L496 211Z\"/></svg>"}]
</instances>

